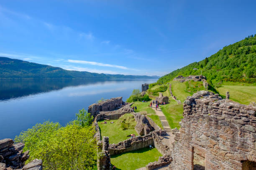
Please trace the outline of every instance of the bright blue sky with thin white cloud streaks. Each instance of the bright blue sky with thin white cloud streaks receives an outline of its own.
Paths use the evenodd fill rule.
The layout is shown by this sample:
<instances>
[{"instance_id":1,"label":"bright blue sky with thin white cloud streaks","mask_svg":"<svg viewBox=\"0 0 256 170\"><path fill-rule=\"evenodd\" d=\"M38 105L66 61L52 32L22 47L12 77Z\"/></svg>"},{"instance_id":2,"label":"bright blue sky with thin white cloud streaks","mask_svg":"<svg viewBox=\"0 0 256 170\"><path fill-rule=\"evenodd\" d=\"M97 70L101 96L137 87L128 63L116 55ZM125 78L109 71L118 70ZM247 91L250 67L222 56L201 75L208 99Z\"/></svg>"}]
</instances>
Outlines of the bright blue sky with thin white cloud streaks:
<instances>
[{"instance_id":1,"label":"bright blue sky with thin white cloud streaks","mask_svg":"<svg viewBox=\"0 0 256 170\"><path fill-rule=\"evenodd\" d=\"M255 0L1 0L0 56L165 75L256 33Z\"/></svg>"}]
</instances>

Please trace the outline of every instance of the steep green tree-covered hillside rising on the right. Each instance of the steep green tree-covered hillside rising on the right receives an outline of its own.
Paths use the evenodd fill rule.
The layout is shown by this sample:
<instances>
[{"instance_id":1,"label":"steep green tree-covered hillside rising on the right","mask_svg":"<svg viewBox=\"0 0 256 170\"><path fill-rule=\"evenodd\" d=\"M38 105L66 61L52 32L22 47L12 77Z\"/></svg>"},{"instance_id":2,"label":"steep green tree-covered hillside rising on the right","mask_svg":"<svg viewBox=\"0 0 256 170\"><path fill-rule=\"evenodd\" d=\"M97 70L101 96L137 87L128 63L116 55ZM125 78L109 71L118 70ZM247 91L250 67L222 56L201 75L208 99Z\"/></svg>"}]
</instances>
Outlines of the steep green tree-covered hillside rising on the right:
<instances>
[{"instance_id":1,"label":"steep green tree-covered hillside rising on the right","mask_svg":"<svg viewBox=\"0 0 256 170\"><path fill-rule=\"evenodd\" d=\"M197 70L193 70L197 68ZM193 62L181 69L160 77L165 83L178 75L202 75L215 84L221 81L256 82L256 34L223 47L217 53L200 62Z\"/></svg>"}]
</instances>

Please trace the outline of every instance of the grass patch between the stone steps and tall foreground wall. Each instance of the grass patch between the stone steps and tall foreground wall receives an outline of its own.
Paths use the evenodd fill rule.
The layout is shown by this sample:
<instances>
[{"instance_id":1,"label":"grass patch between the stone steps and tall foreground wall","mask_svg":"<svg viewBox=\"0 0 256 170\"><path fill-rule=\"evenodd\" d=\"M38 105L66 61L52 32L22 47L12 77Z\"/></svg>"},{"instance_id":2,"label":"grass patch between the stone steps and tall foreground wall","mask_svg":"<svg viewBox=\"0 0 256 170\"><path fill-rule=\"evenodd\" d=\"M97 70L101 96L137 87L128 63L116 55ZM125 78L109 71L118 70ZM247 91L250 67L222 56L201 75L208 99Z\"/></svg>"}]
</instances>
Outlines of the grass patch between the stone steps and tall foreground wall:
<instances>
[{"instance_id":1,"label":"grass patch between the stone steps and tall foreground wall","mask_svg":"<svg viewBox=\"0 0 256 170\"><path fill-rule=\"evenodd\" d=\"M183 105L178 105L177 102L173 99L170 100L170 103L167 105L161 105L161 110L164 113L166 120L170 128L180 128L179 122L181 121Z\"/></svg>"}]
</instances>

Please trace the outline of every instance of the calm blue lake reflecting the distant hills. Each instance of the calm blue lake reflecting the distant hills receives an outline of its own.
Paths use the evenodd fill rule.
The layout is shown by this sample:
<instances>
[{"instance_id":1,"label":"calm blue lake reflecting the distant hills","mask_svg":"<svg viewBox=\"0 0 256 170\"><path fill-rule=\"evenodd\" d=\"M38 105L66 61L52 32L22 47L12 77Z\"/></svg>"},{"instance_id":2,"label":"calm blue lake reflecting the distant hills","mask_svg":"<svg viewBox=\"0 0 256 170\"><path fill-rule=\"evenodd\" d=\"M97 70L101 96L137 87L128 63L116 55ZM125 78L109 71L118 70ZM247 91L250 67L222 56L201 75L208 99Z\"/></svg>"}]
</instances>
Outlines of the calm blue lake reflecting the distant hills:
<instances>
[{"instance_id":1,"label":"calm blue lake reflecting the distant hills","mask_svg":"<svg viewBox=\"0 0 256 170\"><path fill-rule=\"evenodd\" d=\"M123 97L156 80L0 80L0 139L46 120L65 125L102 97Z\"/></svg>"}]
</instances>

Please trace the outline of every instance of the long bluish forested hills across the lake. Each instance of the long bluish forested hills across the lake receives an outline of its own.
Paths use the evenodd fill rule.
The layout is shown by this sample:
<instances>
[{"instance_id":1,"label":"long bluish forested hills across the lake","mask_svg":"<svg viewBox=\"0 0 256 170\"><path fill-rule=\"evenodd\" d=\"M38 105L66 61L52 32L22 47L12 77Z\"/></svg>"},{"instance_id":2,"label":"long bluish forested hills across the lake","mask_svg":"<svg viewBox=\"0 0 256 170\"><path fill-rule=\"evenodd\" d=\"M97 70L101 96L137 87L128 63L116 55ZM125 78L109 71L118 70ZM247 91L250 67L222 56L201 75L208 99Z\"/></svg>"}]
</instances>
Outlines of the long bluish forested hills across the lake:
<instances>
[{"instance_id":1,"label":"long bluish forested hills across the lake","mask_svg":"<svg viewBox=\"0 0 256 170\"><path fill-rule=\"evenodd\" d=\"M0 78L158 79L159 76L110 75L87 71L71 71L50 65L0 57Z\"/></svg>"}]
</instances>

